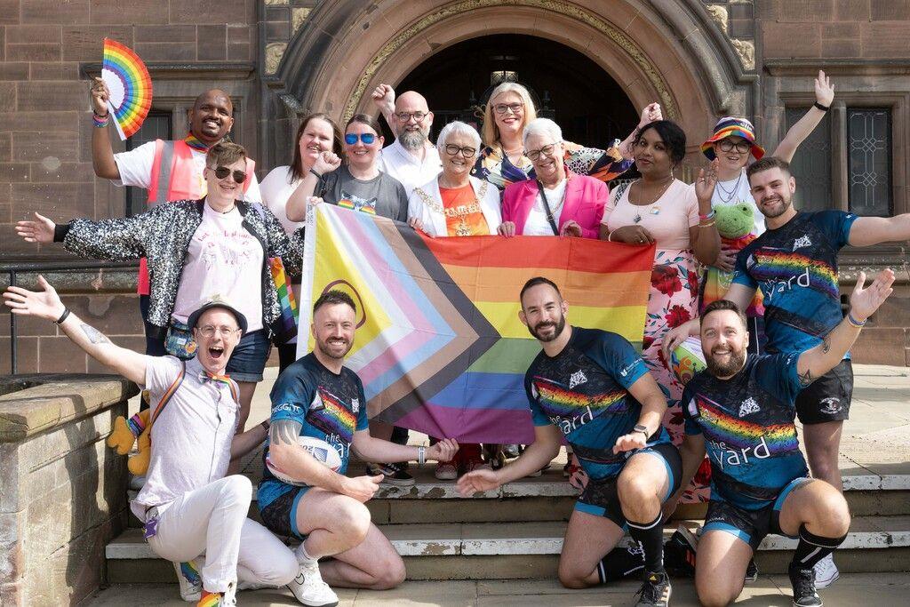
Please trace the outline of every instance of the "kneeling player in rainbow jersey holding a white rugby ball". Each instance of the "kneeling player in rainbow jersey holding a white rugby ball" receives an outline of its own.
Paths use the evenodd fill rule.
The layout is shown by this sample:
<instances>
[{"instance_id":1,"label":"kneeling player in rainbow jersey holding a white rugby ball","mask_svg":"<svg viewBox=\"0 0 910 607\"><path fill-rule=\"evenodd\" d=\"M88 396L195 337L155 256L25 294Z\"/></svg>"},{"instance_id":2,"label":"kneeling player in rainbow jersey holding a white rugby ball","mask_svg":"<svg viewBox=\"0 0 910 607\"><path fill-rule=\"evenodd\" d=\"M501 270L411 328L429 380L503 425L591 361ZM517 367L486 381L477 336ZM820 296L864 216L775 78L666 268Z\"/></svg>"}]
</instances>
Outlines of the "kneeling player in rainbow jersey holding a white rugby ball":
<instances>
[{"instance_id":1,"label":"kneeling player in rainbow jersey holding a white rugby ball","mask_svg":"<svg viewBox=\"0 0 910 607\"><path fill-rule=\"evenodd\" d=\"M329 585L384 590L405 578L404 562L370 522L364 505L382 476L344 476L350 450L364 461L420 463L448 461L458 450L454 440L425 448L369 436L363 384L343 366L354 343L356 322L354 301L347 293L330 290L320 296L310 326L316 349L285 369L271 392L259 510L268 529L302 541L295 551L300 575L289 587L305 605L338 604ZM339 458L318 460L301 440L324 441ZM319 455L318 449L312 452ZM338 471L322 460L334 460ZM328 556L332 560L319 563Z\"/></svg>"}]
</instances>

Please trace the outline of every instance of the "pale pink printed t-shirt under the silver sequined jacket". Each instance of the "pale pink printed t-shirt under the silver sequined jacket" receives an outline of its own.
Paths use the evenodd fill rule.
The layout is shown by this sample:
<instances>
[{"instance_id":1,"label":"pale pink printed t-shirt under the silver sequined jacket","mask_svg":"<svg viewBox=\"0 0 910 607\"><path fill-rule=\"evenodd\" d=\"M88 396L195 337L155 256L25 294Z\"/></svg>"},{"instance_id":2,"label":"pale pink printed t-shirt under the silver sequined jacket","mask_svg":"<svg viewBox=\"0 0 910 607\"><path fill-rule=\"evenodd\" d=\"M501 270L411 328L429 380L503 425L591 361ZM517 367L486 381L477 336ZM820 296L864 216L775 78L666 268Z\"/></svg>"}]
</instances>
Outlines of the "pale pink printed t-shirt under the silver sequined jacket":
<instances>
[{"instance_id":1,"label":"pale pink printed t-shirt under the silver sequined jacket","mask_svg":"<svg viewBox=\"0 0 910 607\"><path fill-rule=\"evenodd\" d=\"M247 317L248 331L262 329L262 245L242 226L237 207L219 213L206 205L189 251L173 317L180 322L220 295Z\"/></svg>"}]
</instances>

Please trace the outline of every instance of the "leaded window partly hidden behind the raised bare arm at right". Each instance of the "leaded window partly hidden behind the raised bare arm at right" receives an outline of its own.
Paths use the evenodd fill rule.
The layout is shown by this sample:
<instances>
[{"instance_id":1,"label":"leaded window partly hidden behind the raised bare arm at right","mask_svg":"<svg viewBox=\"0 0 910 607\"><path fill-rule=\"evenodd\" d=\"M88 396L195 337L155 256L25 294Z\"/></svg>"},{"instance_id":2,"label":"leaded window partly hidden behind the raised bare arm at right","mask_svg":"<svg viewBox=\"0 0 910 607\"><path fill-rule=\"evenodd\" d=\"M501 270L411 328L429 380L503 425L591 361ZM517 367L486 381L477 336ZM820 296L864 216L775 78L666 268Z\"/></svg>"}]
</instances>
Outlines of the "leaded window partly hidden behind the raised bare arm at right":
<instances>
[{"instance_id":1,"label":"leaded window partly hidden behind the raised bare arm at right","mask_svg":"<svg viewBox=\"0 0 910 607\"><path fill-rule=\"evenodd\" d=\"M787 129L794 126L809 110L808 107L788 107ZM765 150L770 154L773 150ZM832 208L831 191L831 115L825 114L821 124L806 137L790 162L796 177L794 206L803 211Z\"/></svg>"}]
</instances>

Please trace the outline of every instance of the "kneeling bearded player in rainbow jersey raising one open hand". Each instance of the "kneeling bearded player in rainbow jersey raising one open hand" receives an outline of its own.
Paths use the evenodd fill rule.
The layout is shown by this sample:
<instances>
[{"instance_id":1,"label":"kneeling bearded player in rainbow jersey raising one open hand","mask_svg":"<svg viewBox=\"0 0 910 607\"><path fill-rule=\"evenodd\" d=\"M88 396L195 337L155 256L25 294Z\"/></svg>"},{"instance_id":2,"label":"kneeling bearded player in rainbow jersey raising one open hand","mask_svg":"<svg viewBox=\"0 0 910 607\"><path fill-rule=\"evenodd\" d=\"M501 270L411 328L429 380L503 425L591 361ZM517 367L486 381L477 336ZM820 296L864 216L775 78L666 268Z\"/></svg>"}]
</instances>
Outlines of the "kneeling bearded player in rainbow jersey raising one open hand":
<instances>
[{"instance_id":1,"label":"kneeling bearded player in rainbow jersey raising one open hand","mask_svg":"<svg viewBox=\"0 0 910 607\"><path fill-rule=\"evenodd\" d=\"M711 503L698 542L695 587L703 605L727 605L743 591L743 574L765 535L799 538L790 582L794 605L818 607L814 565L846 538L850 512L840 491L810 479L794 426L796 395L844 358L865 319L891 293L883 270L869 288L861 272L850 312L822 343L803 352L746 354L743 312L721 299L702 313L707 369L682 393L684 479L711 461Z\"/></svg>"}]
</instances>

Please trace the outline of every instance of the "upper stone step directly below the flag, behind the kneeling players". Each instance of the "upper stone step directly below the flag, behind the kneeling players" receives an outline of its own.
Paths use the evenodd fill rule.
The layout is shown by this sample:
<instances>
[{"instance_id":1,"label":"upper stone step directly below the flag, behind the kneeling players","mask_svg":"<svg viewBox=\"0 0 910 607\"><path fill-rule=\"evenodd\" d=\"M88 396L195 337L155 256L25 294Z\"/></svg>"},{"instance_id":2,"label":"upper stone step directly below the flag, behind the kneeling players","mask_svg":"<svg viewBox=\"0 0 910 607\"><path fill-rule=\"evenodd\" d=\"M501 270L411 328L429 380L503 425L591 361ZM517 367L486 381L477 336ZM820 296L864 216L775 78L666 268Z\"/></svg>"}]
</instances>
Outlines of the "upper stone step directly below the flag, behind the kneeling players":
<instances>
[{"instance_id":1,"label":"upper stone step directly below the flag, behind the kneeling players","mask_svg":"<svg viewBox=\"0 0 910 607\"><path fill-rule=\"evenodd\" d=\"M437 481L429 470L414 470L414 476L417 482L410 487L379 485L376 497L367 502L373 522L568 521L578 496L561 470L547 470L538 478L511 482L471 499L461 498L453 481ZM857 517L910 514L910 475L845 476L844 495ZM136 497L136 492L130 491L129 497ZM253 501L249 515L258 520L255 493ZM675 518L700 518L704 509L704 504L682 505ZM130 526L139 526L132 515Z\"/></svg>"}]
</instances>

